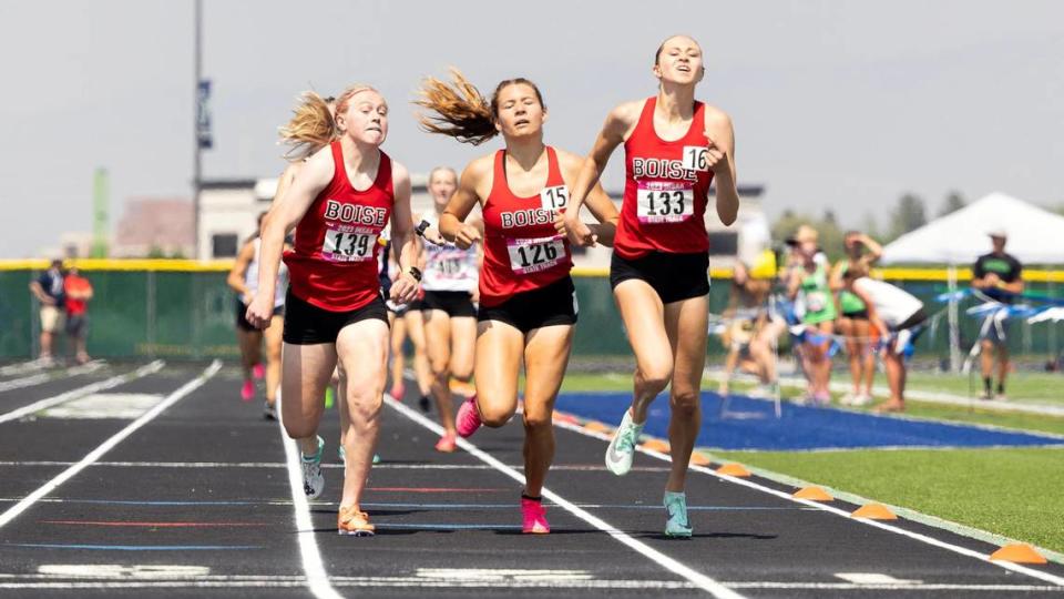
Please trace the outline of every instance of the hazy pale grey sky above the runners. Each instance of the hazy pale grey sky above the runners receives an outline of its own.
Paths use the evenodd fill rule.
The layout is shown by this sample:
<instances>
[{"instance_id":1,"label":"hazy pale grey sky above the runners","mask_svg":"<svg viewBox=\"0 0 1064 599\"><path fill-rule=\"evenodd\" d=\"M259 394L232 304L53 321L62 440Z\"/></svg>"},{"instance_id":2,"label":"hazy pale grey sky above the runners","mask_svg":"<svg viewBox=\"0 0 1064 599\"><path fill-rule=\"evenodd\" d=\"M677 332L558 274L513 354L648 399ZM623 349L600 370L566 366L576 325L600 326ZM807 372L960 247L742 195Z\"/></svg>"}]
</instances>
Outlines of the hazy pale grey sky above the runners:
<instances>
[{"instance_id":1,"label":"hazy pale grey sky above the runners","mask_svg":"<svg viewBox=\"0 0 1064 599\"><path fill-rule=\"evenodd\" d=\"M385 150L412 171L498 148L421 133L421 77L458 65L482 91L543 90L546 141L586 153L616 103L655 92L654 50L705 49L698 97L735 122L740 183L771 214L886 219L951 189L1064 203L1064 3L1016 1L204 1L215 149L206 177L274 176L301 90L376 85ZM192 0L0 0L0 257L91 229L92 173L112 227L133 196L190 197ZM620 163L620 152L614 165ZM612 169L607 189L620 189Z\"/></svg>"}]
</instances>

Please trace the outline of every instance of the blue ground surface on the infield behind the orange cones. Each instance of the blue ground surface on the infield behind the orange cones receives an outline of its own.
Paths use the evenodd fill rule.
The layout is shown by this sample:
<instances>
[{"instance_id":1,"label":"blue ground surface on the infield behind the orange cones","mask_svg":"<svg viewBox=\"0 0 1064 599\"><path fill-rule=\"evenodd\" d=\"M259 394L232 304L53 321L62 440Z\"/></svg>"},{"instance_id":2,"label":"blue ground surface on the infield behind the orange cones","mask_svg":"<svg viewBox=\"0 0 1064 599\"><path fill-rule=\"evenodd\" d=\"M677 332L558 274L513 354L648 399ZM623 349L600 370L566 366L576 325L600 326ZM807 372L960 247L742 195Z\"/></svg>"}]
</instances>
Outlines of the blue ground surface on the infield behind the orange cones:
<instances>
[{"instance_id":1,"label":"blue ground surface on the infield behind the orange cones","mask_svg":"<svg viewBox=\"0 0 1064 599\"><path fill-rule=\"evenodd\" d=\"M631 402L628 393L571 393L556 408L582 418L616 426ZM699 447L719 449L846 449L859 447L989 447L1064 445L1058 437L990 430L974 426L874 416L833 408L804 407L785 402L777 419L771 402L732 396L720 415L722 397L702 394ZM668 397L651 407L644 433L668 438Z\"/></svg>"}]
</instances>

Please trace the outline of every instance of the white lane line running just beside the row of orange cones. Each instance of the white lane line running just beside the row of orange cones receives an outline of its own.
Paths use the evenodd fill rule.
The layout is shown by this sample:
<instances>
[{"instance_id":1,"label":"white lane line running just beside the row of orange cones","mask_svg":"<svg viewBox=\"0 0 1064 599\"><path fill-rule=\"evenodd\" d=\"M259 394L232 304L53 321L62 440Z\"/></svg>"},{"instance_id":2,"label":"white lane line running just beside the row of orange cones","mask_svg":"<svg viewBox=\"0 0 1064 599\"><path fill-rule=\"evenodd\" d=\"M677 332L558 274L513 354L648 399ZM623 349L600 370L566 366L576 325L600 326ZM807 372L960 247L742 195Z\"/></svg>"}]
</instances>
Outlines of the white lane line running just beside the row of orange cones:
<instances>
[{"instance_id":1,"label":"white lane line running just beside the row of orange cones","mask_svg":"<svg viewBox=\"0 0 1064 599\"><path fill-rule=\"evenodd\" d=\"M586 437L594 437L594 438L596 438L596 439L602 439L602 440L604 440L604 441L606 441L606 443L610 443L610 436L608 436L608 435L605 435L605 434L603 434L603 433L596 433L596 432L594 432L594 430L585 430L583 427L581 427L581 426L579 426L579 425L573 425L573 424L569 424L569 423L554 423L554 426L560 427L560 428L564 428L564 429L566 429L566 430L572 430L573 433L577 433L577 434L584 435L584 436L586 436ZM651 456L651 457L661 459L661 460L663 460L663 461L669 461L669 463L672 461L672 457L669 457L667 454L662 454L662 453L659 453L659 451L652 451L652 450L649 450L649 449L643 448L642 446L636 446L636 450L642 451L642 453L644 453L644 454L646 454L646 455L648 455L648 456ZM720 480L727 480L728 483L735 483L736 485L739 485L739 486L743 486L743 487L748 487L748 488L751 488L751 489L755 489L755 490L759 490L759 491L761 491L761 493L767 493L767 494L769 494L769 495L775 495L776 497L779 497L779 498L781 498L781 499L786 499L786 500L788 500L788 501L794 501L794 502L796 502L796 504L801 504L801 505L804 505L804 506L815 507L815 508L817 508L817 509L820 509L820 510L823 510L823 511L828 511L828 512L830 512L830 514L835 514L836 516L842 516L842 517L846 518L847 520L850 520L850 521L853 521L853 522L860 522L860 524L862 524L862 525L867 525L867 526L871 526L871 527L879 528L879 529L882 529L882 530L887 530L888 532L894 532L894 534L898 534L898 535L901 535L901 536L904 536L904 537L909 537L910 539L914 539L914 540L924 542L924 544L927 544L927 545L931 545L931 546L938 547L938 548L940 548L940 549L947 549L947 550L949 550L949 551L953 551L954 554L960 554L960 555L962 555L962 556L966 556L966 557L975 558L975 559L981 560L981 561L985 561L986 564L990 564L990 565L992 565L992 566L998 566L998 567L1004 568L1004 569L1006 569L1006 570L1012 570L1012 571L1014 571L1014 572L1024 573L1024 575L1027 575L1027 576L1030 576L1030 577L1032 577L1032 578L1037 578L1039 580L1042 580L1042 581L1045 581L1045 582L1050 582L1050 583L1052 583L1052 585L1058 585L1058 586L1061 586L1061 587L1064 587L1064 577L1054 576L1054 575L1051 575L1051 573L1048 573L1048 572L1042 572L1042 571L1035 570L1035 569L1033 569L1033 568L1027 568L1026 566L1021 566L1021 565L1019 565L1019 564L1012 564L1012 562L1009 562L1009 561L991 561L990 556L986 555L986 554L980 554L979 551L974 551L974 550L972 550L972 549L968 549L968 548L961 547L961 546L959 546L959 545L953 545L953 544L950 544L950 542L945 542L945 541L942 541L942 540L939 540L939 539L929 537L929 536L927 536L927 535L921 535L921 534L919 534L919 532L912 532L912 531L910 531L910 530L906 530L906 529L899 528L899 527L897 527L897 526L891 526L891 525L888 525L888 524L883 524L883 522L878 521L878 520L870 520L870 519L867 519L867 518L852 518L852 517L850 517L850 512L848 512L848 511L846 511L846 510L842 510L842 509L839 509L839 508L837 508L837 507L828 506L828 505L825 505L825 504L821 504L821 502L818 502L818 501L810 501L810 500L808 500L808 499L797 499L797 498L792 497L792 496L791 496L790 494L788 494L788 493L784 493L784 491L779 491L779 490L776 490L776 489L771 489L771 488L769 488L769 487L766 487L766 486L764 486L764 485L758 485L757 483L754 483L754 481L751 481L751 480L746 480L746 479L744 479L744 478L736 478L736 477L734 477L734 476L727 476L727 475L717 474L716 471L714 471L714 470L712 470L712 469L709 469L709 468L706 468L705 466L695 466L694 464L692 464L692 465L688 467L688 469L694 470L694 471L698 471L698 473L703 473L703 474L707 474L707 475L709 475L709 476L719 478Z\"/></svg>"}]
</instances>

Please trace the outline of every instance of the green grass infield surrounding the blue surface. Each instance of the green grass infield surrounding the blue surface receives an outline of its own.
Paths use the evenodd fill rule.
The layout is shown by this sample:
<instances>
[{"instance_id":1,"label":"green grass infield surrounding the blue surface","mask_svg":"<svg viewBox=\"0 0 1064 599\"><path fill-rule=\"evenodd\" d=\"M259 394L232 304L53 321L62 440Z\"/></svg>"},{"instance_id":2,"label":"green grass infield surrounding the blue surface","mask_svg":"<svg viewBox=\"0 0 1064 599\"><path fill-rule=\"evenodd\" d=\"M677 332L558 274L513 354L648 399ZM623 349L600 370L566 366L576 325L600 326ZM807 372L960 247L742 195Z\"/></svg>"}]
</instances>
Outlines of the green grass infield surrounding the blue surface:
<instances>
[{"instance_id":1,"label":"green grass infield surrounding the blue surface","mask_svg":"<svg viewBox=\"0 0 1064 599\"><path fill-rule=\"evenodd\" d=\"M1064 404L1062 383L1061 375L1022 373L1012 377L1010 395ZM716 382L706 379L703 388L715 389ZM749 385L733 385L739 393L745 388ZM910 388L966 396L968 378L914 374ZM572 373L562 385L563 392L631 389L631 374ZM785 398L798 393L784 389ZM907 415L1064 435L1064 418L1051 416L912 399ZM714 451L713 456L1064 552L1064 448Z\"/></svg>"}]
</instances>

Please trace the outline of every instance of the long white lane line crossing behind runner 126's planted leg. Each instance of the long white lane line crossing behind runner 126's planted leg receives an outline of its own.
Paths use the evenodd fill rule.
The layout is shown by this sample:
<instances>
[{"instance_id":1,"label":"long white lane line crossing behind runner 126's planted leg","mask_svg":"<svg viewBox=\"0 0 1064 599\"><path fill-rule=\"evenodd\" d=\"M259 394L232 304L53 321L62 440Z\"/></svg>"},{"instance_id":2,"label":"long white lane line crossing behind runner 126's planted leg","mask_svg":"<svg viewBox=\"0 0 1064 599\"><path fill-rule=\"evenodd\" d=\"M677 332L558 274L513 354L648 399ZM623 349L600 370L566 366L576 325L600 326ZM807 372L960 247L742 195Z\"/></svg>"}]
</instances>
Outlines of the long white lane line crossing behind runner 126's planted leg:
<instances>
[{"instance_id":1,"label":"long white lane line crossing behind runner 126's planted leg","mask_svg":"<svg viewBox=\"0 0 1064 599\"><path fill-rule=\"evenodd\" d=\"M437 435L443 434L443 428L440 425L433 423L432 420L429 420L421 414L418 414L417 412L415 412L412 408L407 407L406 405L400 404L399 402L396 402L388 395L385 395L385 402L392 409L399 412L407 418L423 426L424 428L428 428L429 430L436 433ZM490 456L489 454L482 451L480 448L478 448L475 445L468 441L467 439L459 438L458 446L469 451L477 459L483 461L484 464L488 464L489 466L492 466L494 469L499 470L500 473L509 476L510 478L516 480L522 485L524 484L524 475L519 473L516 469L511 468L510 466L507 466L502 461L499 461L498 459ZM662 554L661 551L649 547L648 545L632 538L625 532L622 532L621 530L613 527L613 525L610 525L605 520L602 520L598 517L592 515L591 512L577 507L575 504L572 504L571 501L566 500L564 497L548 489L546 487L543 487L542 496L550 499L551 501L553 501L555 505L557 505L565 511L572 514L573 516L576 516L581 520L584 520L585 522L597 528L598 530L606 532L607 535L610 535L621 544L626 545L628 548L635 550L636 552L649 559L651 561L657 564L662 568L665 568L666 570L669 570L687 579L688 581L693 582L697 588L713 595L714 597L718 597L723 599L739 599L743 597L741 595L733 591L732 589L725 587L724 585L722 585L720 582L717 582L716 580L709 578L708 576L705 576L702 572L695 571L694 569L681 564L679 561L666 556L665 554Z\"/></svg>"}]
</instances>

